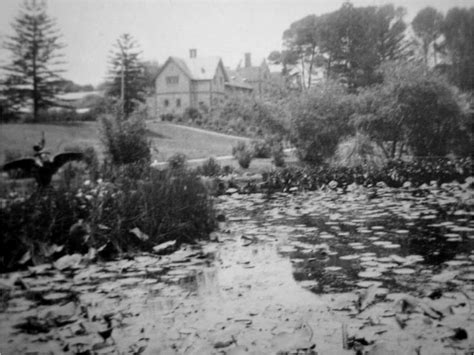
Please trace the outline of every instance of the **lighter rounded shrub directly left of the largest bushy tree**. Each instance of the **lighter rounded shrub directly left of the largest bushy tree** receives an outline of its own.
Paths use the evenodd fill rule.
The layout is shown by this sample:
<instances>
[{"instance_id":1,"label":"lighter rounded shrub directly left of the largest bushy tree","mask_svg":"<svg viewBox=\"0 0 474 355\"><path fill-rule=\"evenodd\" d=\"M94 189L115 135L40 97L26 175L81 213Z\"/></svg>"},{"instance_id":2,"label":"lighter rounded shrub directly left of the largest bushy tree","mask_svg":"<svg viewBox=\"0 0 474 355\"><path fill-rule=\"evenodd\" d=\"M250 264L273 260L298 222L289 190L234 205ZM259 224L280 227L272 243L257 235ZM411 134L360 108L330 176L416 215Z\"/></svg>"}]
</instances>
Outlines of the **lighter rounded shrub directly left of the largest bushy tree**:
<instances>
[{"instance_id":1,"label":"lighter rounded shrub directly left of the largest bushy tree","mask_svg":"<svg viewBox=\"0 0 474 355\"><path fill-rule=\"evenodd\" d=\"M352 128L353 97L345 88L327 83L313 88L294 102L291 140L301 160L321 164L330 158L342 137Z\"/></svg>"}]
</instances>

